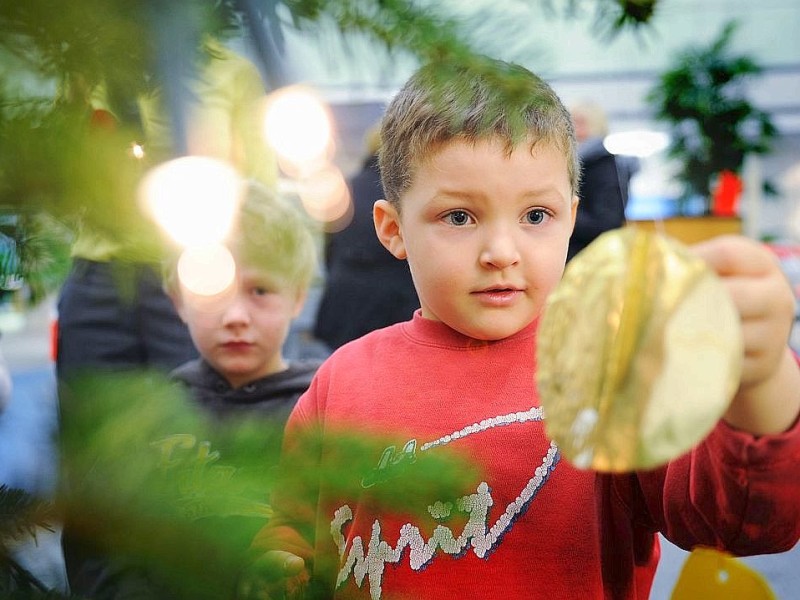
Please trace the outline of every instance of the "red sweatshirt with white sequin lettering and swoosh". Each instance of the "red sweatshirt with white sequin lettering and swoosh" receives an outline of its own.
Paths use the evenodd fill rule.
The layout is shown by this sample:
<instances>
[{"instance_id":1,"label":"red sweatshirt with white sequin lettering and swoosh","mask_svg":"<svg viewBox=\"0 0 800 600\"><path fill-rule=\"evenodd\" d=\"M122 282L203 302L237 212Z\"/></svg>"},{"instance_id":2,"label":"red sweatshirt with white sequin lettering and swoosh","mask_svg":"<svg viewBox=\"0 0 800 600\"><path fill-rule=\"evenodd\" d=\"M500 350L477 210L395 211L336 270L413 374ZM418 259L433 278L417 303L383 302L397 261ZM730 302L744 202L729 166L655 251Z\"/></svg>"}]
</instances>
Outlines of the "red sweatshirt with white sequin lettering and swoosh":
<instances>
[{"instance_id":1,"label":"red sweatshirt with white sequin lettering and swoosh","mask_svg":"<svg viewBox=\"0 0 800 600\"><path fill-rule=\"evenodd\" d=\"M322 597L557 600L647 598L659 531L740 555L800 539L800 426L720 423L654 471L577 470L545 436L535 334L479 342L417 313L340 348L289 420L295 477L254 545L305 558ZM385 437L363 456L342 431ZM437 496L415 470L450 451L471 468Z\"/></svg>"}]
</instances>

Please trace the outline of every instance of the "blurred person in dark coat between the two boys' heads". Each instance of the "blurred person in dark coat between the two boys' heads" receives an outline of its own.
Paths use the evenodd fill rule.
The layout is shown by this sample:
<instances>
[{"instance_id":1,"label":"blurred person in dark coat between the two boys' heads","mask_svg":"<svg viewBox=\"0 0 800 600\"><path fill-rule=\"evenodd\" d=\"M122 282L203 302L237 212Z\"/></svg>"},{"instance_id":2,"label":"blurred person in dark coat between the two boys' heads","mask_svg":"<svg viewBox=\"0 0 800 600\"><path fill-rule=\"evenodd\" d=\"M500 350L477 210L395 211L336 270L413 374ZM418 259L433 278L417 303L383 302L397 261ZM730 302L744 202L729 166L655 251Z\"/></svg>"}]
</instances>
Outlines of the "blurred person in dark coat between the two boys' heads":
<instances>
[{"instance_id":1,"label":"blurred person in dark coat between the two boys' heads","mask_svg":"<svg viewBox=\"0 0 800 600\"><path fill-rule=\"evenodd\" d=\"M410 319L419 308L408 265L378 241L372 205L383 198L377 127L366 135L368 155L349 182L353 219L329 234L325 287L317 311L314 335L331 349L365 333Z\"/></svg>"}]
</instances>

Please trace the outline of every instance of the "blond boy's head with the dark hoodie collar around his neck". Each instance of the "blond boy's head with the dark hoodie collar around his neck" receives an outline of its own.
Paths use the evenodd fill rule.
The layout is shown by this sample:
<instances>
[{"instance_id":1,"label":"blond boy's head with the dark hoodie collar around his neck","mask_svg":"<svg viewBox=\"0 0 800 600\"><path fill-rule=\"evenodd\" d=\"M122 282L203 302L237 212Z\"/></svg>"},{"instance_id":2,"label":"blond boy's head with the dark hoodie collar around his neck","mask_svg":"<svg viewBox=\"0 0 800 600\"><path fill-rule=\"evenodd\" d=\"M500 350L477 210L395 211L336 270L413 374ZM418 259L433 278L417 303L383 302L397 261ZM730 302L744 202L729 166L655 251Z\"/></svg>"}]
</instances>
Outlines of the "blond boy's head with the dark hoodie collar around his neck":
<instances>
[{"instance_id":1,"label":"blond boy's head with the dark hoodie collar around his neck","mask_svg":"<svg viewBox=\"0 0 800 600\"><path fill-rule=\"evenodd\" d=\"M283 424L319 367L283 357L316 270L316 248L299 210L254 181L247 186L228 243L237 269L233 289L209 299L183 288L175 273L167 282L200 352L172 376L214 415Z\"/></svg>"}]
</instances>

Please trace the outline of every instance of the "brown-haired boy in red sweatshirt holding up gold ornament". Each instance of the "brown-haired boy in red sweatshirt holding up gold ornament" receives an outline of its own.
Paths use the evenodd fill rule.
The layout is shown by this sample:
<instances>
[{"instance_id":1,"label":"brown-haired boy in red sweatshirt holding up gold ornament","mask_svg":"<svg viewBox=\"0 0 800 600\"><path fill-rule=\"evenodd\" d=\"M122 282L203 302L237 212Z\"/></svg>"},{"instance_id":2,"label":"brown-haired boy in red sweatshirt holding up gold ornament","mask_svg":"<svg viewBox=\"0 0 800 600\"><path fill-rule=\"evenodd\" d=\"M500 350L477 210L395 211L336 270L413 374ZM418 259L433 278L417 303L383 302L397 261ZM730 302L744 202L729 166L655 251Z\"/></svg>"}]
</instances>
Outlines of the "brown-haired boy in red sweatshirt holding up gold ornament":
<instances>
[{"instance_id":1,"label":"brown-haired boy in red sweatshirt holding up gold ornament","mask_svg":"<svg viewBox=\"0 0 800 600\"><path fill-rule=\"evenodd\" d=\"M375 227L408 260L421 310L337 350L298 402L285 460L318 461L308 469L326 477L274 499L245 594L278 573L289 590L310 579L315 597L646 598L659 531L684 548L740 554L784 551L800 537L793 300L747 240L696 248L730 289L746 352L733 404L705 441L663 468L607 475L575 469L546 438L537 319L575 221L576 145L544 82L495 68L448 77L423 68L387 109ZM514 77L513 97L496 75ZM390 437L373 476L336 462L341 430ZM313 457L306 432L321 437ZM402 510L376 500L396 466L413 473L416 459L447 450L477 467L460 497L401 488Z\"/></svg>"}]
</instances>

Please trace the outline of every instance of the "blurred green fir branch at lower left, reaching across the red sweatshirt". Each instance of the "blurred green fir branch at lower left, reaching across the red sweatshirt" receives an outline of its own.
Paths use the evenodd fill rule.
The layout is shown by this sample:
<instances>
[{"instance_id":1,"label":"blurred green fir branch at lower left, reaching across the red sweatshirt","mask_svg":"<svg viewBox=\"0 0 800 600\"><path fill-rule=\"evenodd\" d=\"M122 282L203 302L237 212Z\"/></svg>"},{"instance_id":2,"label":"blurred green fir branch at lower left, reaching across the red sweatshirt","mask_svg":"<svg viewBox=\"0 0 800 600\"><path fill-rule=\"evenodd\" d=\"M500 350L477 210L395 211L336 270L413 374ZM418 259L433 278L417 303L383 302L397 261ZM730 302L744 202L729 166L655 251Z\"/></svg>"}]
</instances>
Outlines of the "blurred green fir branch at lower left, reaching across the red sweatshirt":
<instances>
[{"instance_id":1,"label":"blurred green fir branch at lower left, reaching across the red sweatshirt","mask_svg":"<svg viewBox=\"0 0 800 600\"><path fill-rule=\"evenodd\" d=\"M311 460L277 479L278 424L252 414L219 422L183 392L157 373L71 381L62 400L58 505L73 539L113 560L127 585L152 586L158 597L224 598L271 514L276 482L283 493L318 481L343 494L358 490L341 489L340 471L312 470ZM367 478L385 447L343 433L340 469ZM401 509L420 490L455 498L474 476L463 460L426 456L398 475L400 488L384 486L378 501Z\"/></svg>"}]
</instances>

